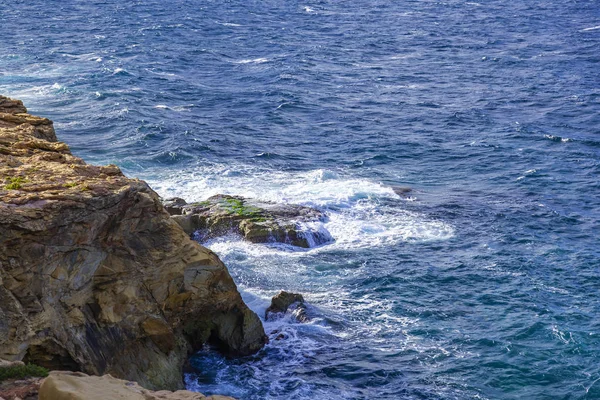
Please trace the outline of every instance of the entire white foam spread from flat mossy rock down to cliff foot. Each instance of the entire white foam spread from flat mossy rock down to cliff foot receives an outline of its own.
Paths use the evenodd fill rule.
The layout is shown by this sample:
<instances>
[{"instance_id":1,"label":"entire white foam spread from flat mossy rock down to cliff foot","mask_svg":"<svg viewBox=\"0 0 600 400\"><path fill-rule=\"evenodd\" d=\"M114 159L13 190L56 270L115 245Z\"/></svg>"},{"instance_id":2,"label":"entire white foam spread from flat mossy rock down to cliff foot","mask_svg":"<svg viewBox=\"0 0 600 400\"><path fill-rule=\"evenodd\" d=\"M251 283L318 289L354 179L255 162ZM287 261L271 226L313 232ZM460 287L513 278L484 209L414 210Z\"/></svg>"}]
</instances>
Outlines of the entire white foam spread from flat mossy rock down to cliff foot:
<instances>
[{"instance_id":1,"label":"entire white foam spread from flat mossy rock down to cliff foot","mask_svg":"<svg viewBox=\"0 0 600 400\"><path fill-rule=\"evenodd\" d=\"M361 249L445 240L454 235L454 229L446 222L406 210L403 199L392 188L349 176L341 170L292 173L249 165L219 164L204 165L183 174L159 176L150 179L149 183L163 197L179 196L188 201L228 193L315 206L327 212L329 219L310 228L319 230L322 227L335 238L334 243L311 249L254 244L236 235L205 243L229 266L244 301L259 316L264 317L271 297L285 289L304 295L310 321L299 323L291 315L264 321L265 332L270 337L263 350L266 356L251 363L231 363L214 352L205 352L203 363L210 369L207 375L214 376L212 383L207 386L206 380L201 379L203 383L199 386L197 379L190 375L186 379L188 388L205 392L226 390L230 395L245 398L249 393L247 384L256 379L269 382L279 393L283 390L279 387L288 387L290 379L302 379L290 377L285 371L306 368L312 360L329 354L331 347L339 343L366 341L375 351L389 354L411 349L432 356L470 356L461 353L460 349L446 348L443 343L412 335L410 332L422 322L399 314L394 299L381 299L368 292L358 294L350 288L331 285L330 273L334 270L334 279L353 281L373 275L371 269L376 266L369 263L346 268L352 265L353 254L357 257L362 254ZM343 260L339 265L337 261L325 261L340 251L344 251L349 264ZM320 261L315 263L314 260ZM328 270L329 262L335 264L331 265L332 270ZM336 288L335 292L332 287ZM249 375L252 376L249 380L236 378ZM319 389L314 385L304 382L296 387L299 392L294 392L291 397L320 398ZM352 390L341 390L339 397L327 393L327 398L355 398L358 395Z\"/></svg>"}]
</instances>

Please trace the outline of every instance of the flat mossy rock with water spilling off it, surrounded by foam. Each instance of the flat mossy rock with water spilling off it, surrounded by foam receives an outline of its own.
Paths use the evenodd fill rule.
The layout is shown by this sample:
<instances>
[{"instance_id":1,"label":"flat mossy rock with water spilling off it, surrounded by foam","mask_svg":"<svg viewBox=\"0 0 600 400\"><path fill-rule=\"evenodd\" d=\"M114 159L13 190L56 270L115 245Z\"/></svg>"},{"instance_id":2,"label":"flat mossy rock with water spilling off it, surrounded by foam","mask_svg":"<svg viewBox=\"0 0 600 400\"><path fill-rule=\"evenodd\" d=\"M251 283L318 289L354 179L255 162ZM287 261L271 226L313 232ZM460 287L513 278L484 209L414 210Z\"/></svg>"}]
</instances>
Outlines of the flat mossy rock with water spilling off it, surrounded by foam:
<instances>
[{"instance_id":1,"label":"flat mossy rock with water spilling off it, surrounded by foam","mask_svg":"<svg viewBox=\"0 0 600 400\"><path fill-rule=\"evenodd\" d=\"M191 204L173 198L164 205L183 230L195 233L200 241L232 232L253 243L287 243L305 248L333 241L320 223L325 221L325 214L310 207L228 195Z\"/></svg>"}]
</instances>

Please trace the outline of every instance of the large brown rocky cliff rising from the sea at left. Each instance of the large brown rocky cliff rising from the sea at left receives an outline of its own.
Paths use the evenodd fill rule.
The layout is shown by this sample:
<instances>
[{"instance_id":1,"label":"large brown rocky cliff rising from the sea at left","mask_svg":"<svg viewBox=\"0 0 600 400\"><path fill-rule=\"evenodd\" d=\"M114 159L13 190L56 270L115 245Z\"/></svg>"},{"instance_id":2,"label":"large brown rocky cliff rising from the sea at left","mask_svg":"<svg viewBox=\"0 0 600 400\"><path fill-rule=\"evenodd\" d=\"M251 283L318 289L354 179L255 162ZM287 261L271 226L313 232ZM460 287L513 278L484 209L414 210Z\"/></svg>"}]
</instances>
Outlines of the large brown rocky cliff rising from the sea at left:
<instances>
[{"instance_id":1,"label":"large brown rocky cliff rising from the sea at left","mask_svg":"<svg viewBox=\"0 0 600 400\"><path fill-rule=\"evenodd\" d=\"M245 355L265 340L145 182L85 164L0 97L0 358L175 389L205 342Z\"/></svg>"}]
</instances>

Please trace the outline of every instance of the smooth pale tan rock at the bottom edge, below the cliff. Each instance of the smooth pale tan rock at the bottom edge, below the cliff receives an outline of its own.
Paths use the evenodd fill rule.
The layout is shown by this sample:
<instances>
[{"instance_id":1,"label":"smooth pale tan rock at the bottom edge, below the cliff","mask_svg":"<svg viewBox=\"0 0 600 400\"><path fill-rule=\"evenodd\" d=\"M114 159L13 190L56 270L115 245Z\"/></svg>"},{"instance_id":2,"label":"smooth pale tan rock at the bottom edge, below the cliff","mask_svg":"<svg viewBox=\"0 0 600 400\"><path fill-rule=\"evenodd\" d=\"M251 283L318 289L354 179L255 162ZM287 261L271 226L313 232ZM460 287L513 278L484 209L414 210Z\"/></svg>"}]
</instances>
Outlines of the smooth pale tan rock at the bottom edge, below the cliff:
<instances>
[{"instance_id":1,"label":"smooth pale tan rock at the bottom edge, below the cliff","mask_svg":"<svg viewBox=\"0 0 600 400\"><path fill-rule=\"evenodd\" d=\"M234 400L226 396L204 396L178 390L153 392L135 382L110 375L89 376L81 372L51 372L39 389L40 400Z\"/></svg>"}]
</instances>

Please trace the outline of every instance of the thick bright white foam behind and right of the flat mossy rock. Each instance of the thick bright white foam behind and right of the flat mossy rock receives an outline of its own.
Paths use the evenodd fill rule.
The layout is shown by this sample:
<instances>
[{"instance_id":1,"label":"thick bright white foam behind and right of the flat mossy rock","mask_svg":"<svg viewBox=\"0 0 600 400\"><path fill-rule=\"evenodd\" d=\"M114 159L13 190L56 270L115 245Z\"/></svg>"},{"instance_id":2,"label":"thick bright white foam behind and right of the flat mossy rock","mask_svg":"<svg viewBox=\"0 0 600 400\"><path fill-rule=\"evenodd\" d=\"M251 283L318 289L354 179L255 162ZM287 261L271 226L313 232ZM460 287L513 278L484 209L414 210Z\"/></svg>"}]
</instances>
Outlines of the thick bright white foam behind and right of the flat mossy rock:
<instances>
[{"instance_id":1,"label":"thick bright white foam behind and right of the flat mossy rock","mask_svg":"<svg viewBox=\"0 0 600 400\"><path fill-rule=\"evenodd\" d=\"M449 224L402 209L402 199L392 188L367 179L342 176L335 171L318 169L291 174L248 166L213 165L190 174L149 182L165 198L202 201L215 194L232 194L317 207L329 218L322 230L321 227L310 228L327 230L335 239L335 243L324 246L322 251L447 240L454 236L454 228ZM386 204L381 204L382 201ZM230 238L227 243L221 241L214 245L224 251L228 246L239 248L235 242ZM275 251L289 249L276 248Z\"/></svg>"}]
</instances>

